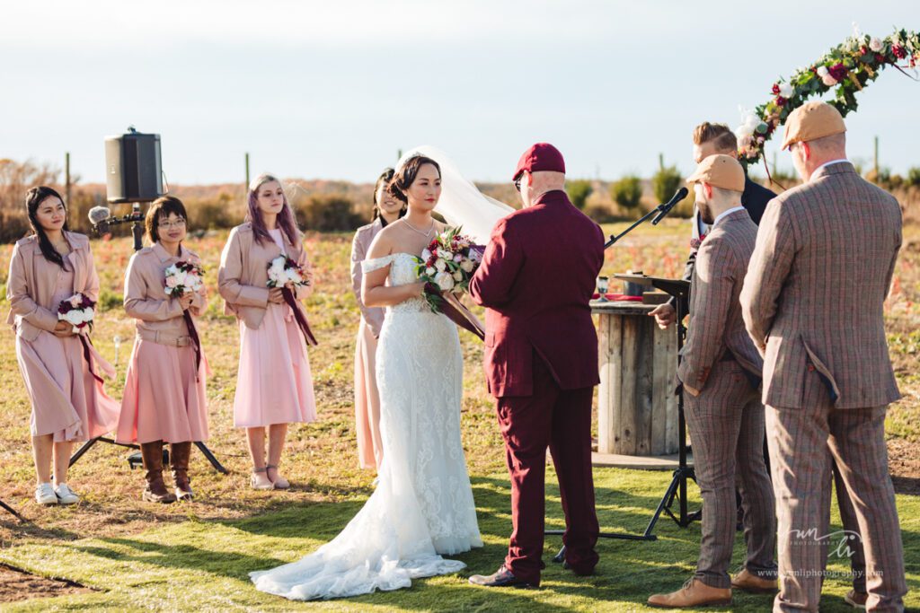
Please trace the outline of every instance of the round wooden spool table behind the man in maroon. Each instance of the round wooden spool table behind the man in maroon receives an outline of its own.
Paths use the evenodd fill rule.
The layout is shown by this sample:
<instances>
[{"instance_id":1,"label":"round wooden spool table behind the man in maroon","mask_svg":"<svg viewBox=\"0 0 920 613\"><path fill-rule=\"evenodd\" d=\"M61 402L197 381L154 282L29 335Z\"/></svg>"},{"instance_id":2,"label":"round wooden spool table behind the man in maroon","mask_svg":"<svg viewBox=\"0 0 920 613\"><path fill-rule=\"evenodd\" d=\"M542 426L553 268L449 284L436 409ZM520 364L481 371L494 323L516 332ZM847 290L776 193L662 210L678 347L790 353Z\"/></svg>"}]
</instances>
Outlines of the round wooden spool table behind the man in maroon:
<instances>
[{"instance_id":1,"label":"round wooden spool table behind the man in maroon","mask_svg":"<svg viewBox=\"0 0 920 613\"><path fill-rule=\"evenodd\" d=\"M598 452L662 456L678 450L677 333L661 330L654 305L592 301L598 315Z\"/></svg>"}]
</instances>

